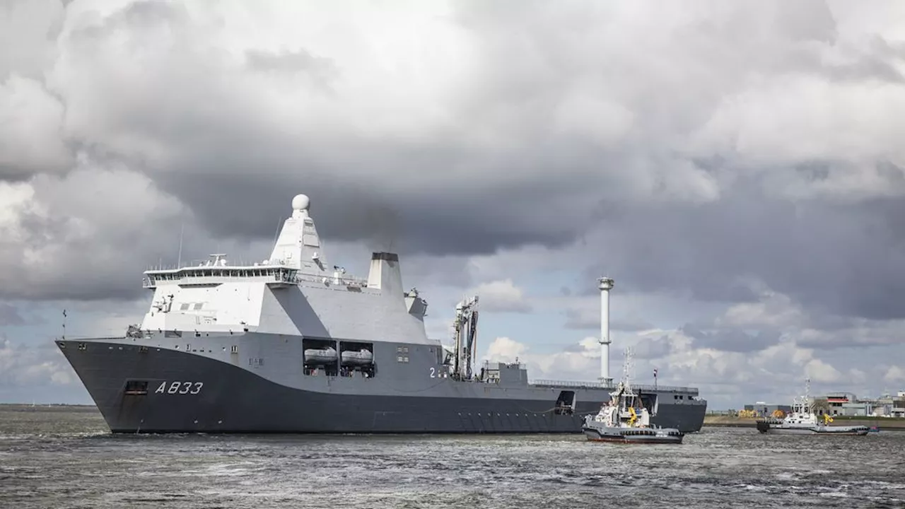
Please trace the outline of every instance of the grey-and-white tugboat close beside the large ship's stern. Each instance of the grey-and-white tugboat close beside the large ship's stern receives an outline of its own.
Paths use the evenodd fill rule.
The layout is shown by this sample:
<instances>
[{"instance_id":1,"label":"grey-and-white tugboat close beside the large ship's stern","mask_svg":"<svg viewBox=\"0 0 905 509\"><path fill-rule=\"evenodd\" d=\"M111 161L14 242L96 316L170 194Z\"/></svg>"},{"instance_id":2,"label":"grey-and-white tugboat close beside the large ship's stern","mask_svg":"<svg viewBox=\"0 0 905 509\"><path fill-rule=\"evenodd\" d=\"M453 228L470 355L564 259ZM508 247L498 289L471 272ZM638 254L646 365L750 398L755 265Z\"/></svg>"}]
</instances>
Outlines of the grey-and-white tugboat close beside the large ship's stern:
<instances>
[{"instance_id":1,"label":"grey-and-white tugboat close beside the large ship's stern","mask_svg":"<svg viewBox=\"0 0 905 509\"><path fill-rule=\"evenodd\" d=\"M625 371L623 381L604 403L596 415L585 417L581 430L592 442L619 442L624 444L681 444L685 436L674 427L653 427L651 414L641 404L638 395L629 383L629 358L631 351L625 349Z\"/></svg>"}]
</instances>

